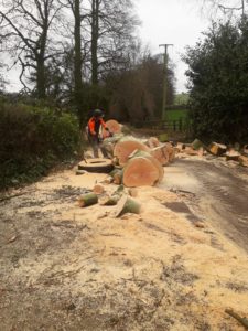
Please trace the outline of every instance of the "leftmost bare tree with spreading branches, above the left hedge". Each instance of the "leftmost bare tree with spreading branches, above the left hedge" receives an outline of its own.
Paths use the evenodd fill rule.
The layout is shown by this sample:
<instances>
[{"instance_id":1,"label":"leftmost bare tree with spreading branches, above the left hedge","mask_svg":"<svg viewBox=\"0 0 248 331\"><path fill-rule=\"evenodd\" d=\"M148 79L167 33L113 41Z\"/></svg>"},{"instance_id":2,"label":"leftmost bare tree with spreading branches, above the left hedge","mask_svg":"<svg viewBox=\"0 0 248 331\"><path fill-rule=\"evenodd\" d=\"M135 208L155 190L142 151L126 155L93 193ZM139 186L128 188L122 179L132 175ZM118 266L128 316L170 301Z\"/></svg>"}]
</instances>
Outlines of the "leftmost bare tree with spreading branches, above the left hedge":
<instances>
[{"instance_id":1,"label":"leftmost bare tree with spreading branches, above the left hedge","mask_svg":"<svg viewBox=\"0 0 248 331\"><path fill-rule=\"evenodd\" d=\"M46 62L57 54L51 35L58 33L52 24L60 9L56 0L7 0L0 9L2 50L21 65L20 81L29 90L25 77L32 74L40 99L46 97Z\"/></svg>"}]
</instances>

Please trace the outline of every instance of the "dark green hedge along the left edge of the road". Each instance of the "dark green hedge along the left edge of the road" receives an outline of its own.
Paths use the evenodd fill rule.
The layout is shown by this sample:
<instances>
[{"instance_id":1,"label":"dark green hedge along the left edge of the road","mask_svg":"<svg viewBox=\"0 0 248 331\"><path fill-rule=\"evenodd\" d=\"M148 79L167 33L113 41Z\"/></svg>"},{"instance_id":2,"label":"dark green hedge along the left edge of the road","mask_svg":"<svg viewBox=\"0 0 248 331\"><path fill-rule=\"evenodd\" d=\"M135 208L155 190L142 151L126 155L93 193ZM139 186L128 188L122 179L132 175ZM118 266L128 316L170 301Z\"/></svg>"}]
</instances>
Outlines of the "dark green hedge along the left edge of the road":
<instances>
[{"instance_id":1,"label":"dark green hedge along the left edge of the road","mask_svg":"<svg viewBox=\"0 0 248 331\"><path fill-rule=\"evenodd\" d=\"M0 189L32 181L78 149L75 116L51 108L0 104Z\"/></svg>"}]
</instances>

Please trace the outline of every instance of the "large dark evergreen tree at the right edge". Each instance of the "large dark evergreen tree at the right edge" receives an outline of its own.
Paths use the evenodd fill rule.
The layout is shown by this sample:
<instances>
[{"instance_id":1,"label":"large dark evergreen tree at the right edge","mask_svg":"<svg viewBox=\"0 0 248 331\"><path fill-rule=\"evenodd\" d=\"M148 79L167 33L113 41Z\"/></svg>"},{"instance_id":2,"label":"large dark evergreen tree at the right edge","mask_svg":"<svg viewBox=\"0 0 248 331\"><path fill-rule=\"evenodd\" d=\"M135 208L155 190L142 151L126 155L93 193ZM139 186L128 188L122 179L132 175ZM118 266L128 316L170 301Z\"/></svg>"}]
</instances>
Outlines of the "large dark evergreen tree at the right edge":
<instances>
[{"instance_id":1,"label":"large dark evergreen tree at the right edge","mask_svg":"<svg viewBox=\"0 0 248 331\"><path fill-rule=\"evenodd\" d=\"M248 20L213 23L184 56L192 128L201 138L248 138Z\"/></svg>"}]
</instances>

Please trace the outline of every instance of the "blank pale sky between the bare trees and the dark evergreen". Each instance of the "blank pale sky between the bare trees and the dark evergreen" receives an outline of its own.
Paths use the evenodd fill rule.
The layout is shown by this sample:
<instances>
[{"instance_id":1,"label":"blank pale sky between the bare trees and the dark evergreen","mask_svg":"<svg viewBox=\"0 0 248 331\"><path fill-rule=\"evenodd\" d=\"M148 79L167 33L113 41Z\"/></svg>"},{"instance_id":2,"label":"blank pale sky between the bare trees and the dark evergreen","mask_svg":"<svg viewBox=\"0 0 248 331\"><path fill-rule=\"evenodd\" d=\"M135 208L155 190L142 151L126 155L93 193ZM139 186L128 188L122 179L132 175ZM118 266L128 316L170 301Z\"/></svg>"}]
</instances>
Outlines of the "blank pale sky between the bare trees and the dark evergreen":
<instances>
[{"instance_id":1,"label":"blank pale sky between the bare trees and the dark evergreen","mask_svg":"<svg viewBox=\"0 0 248 331\"><path fill-rule=\"evenodd\" d=\"M142 41L150 45L153 54L163 51L159 44L174 44L169 56L176 65L176 89L185 92L186 65L181 61L186 45L194 45L209 20L201 14L200 1L194 0L137 0L137 11L142 25Z\"/></svg>"}]
</instances>

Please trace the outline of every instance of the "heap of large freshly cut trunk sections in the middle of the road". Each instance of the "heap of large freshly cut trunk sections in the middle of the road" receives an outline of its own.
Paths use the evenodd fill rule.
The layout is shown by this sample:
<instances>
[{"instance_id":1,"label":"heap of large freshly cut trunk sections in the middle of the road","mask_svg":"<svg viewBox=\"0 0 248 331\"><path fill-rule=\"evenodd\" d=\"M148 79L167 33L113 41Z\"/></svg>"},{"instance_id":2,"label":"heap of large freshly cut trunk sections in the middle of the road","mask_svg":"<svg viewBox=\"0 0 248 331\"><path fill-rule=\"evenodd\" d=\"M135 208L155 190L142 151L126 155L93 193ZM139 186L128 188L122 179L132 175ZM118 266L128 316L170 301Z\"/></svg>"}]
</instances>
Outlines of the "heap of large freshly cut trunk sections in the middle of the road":
<instances>
[{"instance_id":1,"label":"heap of large freshly cut trunk sections in the middle of the road","mask_svg":"<svg viewBox=\"0 0 248 331\"><path fill-rule=\"evenodd\" d=\"M121 134L106 138L104 146L111 150L116 169L110 173L115 184L128 188L154 185L162 181L163 166L173 161L175 150L170 142L161 143L158 138L141 140Z\"/></svg>"}]
</instances>

